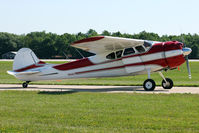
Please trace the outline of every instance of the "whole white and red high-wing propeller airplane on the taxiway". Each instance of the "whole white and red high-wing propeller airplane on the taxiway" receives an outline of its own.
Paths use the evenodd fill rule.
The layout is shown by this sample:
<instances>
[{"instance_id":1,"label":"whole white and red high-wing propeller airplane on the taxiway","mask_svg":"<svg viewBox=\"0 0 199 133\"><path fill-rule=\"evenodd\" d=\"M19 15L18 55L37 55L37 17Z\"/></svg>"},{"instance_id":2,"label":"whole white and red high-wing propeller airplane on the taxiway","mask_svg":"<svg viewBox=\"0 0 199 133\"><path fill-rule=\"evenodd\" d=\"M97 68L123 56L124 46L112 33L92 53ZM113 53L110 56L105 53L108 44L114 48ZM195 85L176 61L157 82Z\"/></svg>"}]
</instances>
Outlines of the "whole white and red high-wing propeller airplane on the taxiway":
<instances>
[{"instance_id":1,"label":"whole white and red high-wing propeller airplane on the taxiway","mask_svg":"<svg viewBox=\"0 0 199 133\"><path fill-rule=\"evenodd\" d=\"M152 72L159 72L162 87L171 89L173 81L165 78L161 71L172 70L187 60L191 78L188 55L191 49L178 41L154 42L110 36L97 36L71 44L96 55L64 64L47 64L40 61L32 50L22 48L14 58L13 70L9 74L29 82L37 80L55 80L71 78L115 77L148 74L143 83L146 91L155 89Z\"/></svg>"}]
</instances>

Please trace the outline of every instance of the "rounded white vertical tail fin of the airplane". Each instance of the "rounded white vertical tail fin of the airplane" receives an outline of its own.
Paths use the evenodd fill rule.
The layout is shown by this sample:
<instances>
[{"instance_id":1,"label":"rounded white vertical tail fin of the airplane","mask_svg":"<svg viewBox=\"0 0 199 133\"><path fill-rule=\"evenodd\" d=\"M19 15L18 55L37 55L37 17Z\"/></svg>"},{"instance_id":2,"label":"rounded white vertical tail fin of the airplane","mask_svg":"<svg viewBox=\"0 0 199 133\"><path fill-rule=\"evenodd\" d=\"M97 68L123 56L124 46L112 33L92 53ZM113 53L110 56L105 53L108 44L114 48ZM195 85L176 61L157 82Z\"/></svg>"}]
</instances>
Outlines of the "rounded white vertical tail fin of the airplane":
<instances>
[{"instance_id":1,"label":"rounded white vertical tail fin of the airplane","mask_svg":"<svg viewBox=\"0 0 199 133\"><path fill-rule=\"evenodd\" d=\"M29 48L21 48L14 58L13 70L18 70L33 64L37 64L39 59Z\"/></svg>"}]
</instances>

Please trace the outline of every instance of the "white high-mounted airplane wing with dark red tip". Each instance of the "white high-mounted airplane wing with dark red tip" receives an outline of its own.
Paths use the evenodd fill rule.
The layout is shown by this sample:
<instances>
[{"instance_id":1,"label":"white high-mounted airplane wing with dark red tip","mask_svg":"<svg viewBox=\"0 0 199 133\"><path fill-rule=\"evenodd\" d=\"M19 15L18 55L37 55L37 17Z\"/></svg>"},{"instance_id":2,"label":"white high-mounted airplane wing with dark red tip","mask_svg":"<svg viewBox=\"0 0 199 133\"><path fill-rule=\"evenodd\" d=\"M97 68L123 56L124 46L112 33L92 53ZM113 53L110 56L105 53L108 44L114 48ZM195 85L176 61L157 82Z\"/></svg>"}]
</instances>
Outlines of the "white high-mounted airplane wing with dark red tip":
<instances>
[{"instance_id":1,"label":"white high-mounted airplane wing with dark red tip","mask_svg":"<svg viewBox=\"0 0 199 133\"><path fill-rule=\"evenodd\" d=\"M74 42L71 46L91 53L101 54L144 44L144 40L121 37L97 36Z\"/></svg>"}]
</instances>

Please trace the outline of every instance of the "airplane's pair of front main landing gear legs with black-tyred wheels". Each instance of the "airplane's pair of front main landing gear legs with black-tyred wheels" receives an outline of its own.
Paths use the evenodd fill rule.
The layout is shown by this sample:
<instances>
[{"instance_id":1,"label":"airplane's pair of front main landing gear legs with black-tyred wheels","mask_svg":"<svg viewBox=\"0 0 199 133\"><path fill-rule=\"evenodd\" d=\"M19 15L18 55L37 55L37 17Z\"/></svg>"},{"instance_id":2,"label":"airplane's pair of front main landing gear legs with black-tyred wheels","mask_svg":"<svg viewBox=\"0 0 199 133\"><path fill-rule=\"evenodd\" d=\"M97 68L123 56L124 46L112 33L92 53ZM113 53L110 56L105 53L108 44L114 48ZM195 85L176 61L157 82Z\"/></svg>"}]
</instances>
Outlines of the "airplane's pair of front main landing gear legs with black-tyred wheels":
<instances>
[{"instance_id":1,"label":"airplane's pair of front main landing gear legs with black-tyred wheels","mask_svg":"<svg viewBox=\"0 0 199 133\"><path fill-rule=\"evenodd\" d=\"M165 78L164 75L159 72L160 76L162 77L162 87L164 89L171 89L173 87L173 81L170 78ZM150 79L150 71L148 71L148 79L143 83L144 90L146 91L153 91L156 87L155 81Z\"/></svg>"}]
</instances>

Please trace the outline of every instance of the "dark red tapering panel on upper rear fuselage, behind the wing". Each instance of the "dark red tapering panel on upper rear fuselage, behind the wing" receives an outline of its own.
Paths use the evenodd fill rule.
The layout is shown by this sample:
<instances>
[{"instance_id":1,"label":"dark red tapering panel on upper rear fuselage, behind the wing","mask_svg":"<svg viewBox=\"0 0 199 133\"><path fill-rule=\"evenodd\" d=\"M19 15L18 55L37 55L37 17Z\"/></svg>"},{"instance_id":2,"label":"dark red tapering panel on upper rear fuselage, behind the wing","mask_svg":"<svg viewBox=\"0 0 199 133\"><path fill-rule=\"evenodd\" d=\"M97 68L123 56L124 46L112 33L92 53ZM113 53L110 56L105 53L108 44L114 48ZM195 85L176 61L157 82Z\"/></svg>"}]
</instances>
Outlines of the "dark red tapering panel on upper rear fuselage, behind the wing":
<instances>
[{"instance_id":1,"label":"dark red tapering panel on upper rear fuselage, behind the wing","mask_svg":"<svg viewBox=\"0 0 199 133\"><path fill-rule=\"evenodd\" d=\"M91 65L94 65L94 64L88 58L85 58L85 59L77 60L70 63L56 65L56 66L53 66L53 68L66 71L66 70L72 70L72 69L91 66Z\"/></svg>"}]
</instances>

